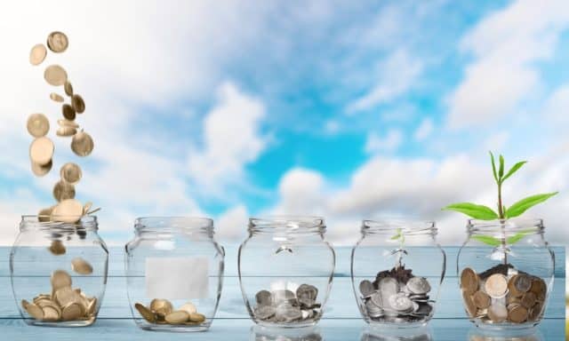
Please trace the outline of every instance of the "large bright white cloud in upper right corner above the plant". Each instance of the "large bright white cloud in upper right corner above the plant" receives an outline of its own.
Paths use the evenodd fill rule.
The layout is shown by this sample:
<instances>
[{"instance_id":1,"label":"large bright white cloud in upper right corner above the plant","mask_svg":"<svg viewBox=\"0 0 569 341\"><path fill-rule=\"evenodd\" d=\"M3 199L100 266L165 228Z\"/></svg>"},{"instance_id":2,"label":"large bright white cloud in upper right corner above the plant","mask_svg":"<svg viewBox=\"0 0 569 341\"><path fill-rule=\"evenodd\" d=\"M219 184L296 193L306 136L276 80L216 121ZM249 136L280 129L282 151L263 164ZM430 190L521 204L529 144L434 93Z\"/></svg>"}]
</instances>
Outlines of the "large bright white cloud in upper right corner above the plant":
<instances>
[{"instance_id":1,"label":"large bright white cloud in upper right corner above the plant","mask_svg":"<svg viewBox=\"0 0 569 341\"><path fill-rule=\"evenodd\" d=\"M531 97L541 81L535 64L553 54L568 10L565 0L518 0L479 22L461 41L475 60L448 98L448 125L493 122Z\"/></svg>"}]
</instances>

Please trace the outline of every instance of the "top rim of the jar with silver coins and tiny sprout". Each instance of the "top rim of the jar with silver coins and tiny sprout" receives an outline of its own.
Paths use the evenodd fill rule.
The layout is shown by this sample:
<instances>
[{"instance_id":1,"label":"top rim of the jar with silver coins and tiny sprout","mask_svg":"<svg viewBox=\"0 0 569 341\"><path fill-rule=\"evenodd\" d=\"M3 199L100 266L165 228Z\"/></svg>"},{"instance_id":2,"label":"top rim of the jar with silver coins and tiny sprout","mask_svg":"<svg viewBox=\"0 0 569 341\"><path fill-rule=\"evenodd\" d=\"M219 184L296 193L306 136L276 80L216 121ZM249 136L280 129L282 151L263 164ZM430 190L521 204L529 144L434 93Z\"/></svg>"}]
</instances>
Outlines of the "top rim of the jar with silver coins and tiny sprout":
<instances>
[{"instance_id":1,"label":"top rim of the jar with silver coins and tiny sprout","mask_svg":"<svg viewBox=\"0 0 569 341\"><path fill-rule=\"evenodd\" d=\"M381 219L362 221L362 234L396 234L401 232L405 235L438 233L434 221L429 220L406 220L406 219Z\"/></svg>"}]
</instances>

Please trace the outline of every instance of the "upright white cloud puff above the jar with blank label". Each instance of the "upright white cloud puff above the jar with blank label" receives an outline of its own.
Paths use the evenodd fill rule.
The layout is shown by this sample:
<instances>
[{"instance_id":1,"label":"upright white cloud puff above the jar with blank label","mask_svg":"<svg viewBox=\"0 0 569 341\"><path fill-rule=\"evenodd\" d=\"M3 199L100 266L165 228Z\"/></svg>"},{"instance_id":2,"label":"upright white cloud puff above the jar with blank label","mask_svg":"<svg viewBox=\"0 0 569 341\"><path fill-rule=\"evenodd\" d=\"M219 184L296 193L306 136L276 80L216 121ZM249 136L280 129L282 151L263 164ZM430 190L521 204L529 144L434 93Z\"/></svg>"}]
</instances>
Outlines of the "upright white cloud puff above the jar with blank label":
<instances>
[{"instance_id":1,"label":"upright white cloud puff above the jar with blank label","mask_svg":"<svg viewBox=\"0 0 569 341\"><path fill-rule=\"evenodd\" d=\"M222 194L224 186L238 183L244 166L256 160L268 142L260 133L265 117L260 99L224 83L218 101L204 118L203 150L188 156L190 177L209 194Z\"/></svg>"}]
</instances>

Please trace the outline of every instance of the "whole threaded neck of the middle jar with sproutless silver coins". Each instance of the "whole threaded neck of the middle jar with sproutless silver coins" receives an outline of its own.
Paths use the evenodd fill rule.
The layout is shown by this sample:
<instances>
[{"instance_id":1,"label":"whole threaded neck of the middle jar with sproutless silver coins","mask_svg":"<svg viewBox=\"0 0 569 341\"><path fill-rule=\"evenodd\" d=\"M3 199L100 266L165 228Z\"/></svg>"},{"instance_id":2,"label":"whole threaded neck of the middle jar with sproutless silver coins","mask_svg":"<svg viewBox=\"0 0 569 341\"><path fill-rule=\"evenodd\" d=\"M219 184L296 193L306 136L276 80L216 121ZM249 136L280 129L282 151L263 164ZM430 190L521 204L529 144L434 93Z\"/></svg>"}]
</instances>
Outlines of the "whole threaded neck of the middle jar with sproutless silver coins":
<instances>
[{"instance_id":1,"label":"whole threaded neck of the middle jar with sproutless silver coins","mask_svg":"<svg viewBox=\"0 0 569 341\"><path fill-rule=\"evenodd\" d=\"M250 235L273 234L284 236L324 236L325 220L309 216L275 216L269 218L250 218Z\"/></svg>"}]
</instances>

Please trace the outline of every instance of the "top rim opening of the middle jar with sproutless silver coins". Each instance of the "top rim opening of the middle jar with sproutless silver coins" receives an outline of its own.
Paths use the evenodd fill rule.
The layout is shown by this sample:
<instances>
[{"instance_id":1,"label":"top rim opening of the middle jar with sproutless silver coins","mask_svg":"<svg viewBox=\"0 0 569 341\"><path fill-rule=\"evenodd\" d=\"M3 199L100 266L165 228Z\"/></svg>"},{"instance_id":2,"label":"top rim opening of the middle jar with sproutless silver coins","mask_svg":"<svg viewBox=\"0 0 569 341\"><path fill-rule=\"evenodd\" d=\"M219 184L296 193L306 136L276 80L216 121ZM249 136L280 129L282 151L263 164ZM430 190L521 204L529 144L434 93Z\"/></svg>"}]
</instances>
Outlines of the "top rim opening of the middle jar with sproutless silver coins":
<instances>
[{"instance_id":1,"label":"top rim opening of the middle jar with sproutless silver coins","mask_svg":"<svg viewBox=\"0 0 569 341\"><path fill-rule=\"evenodd\" d=\"M317 216L278 215L249 218L249 232L325 232L325 219Z\"/></svg>"}]
</instances>

